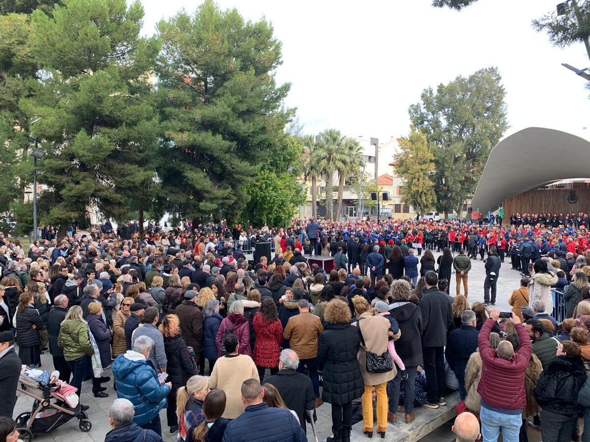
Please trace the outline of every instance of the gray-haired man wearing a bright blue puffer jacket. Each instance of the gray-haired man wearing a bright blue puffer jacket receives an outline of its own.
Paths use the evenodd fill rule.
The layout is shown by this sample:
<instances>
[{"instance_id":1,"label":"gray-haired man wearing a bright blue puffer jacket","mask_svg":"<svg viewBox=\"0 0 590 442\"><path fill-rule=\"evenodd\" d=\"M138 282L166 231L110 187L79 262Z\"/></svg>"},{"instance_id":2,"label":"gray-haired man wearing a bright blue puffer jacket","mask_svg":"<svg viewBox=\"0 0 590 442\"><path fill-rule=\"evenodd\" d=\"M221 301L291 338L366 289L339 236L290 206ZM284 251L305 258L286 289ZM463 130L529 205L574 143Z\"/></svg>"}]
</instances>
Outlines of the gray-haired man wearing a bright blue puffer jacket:
<instances>
[{"instance_id":1,"label":"gray-haired man wearing a bright blue puffer jacket","mask_svg":"<svg viewBox=\"0 0 590 442\"><path fill-rule=\"evenodd\" d=\"M160 410L166 408L171 382L160 382L152 364L148 363L153 339L142 335L133 341L133 349L117 356L113 362L117 397L131 401L135 410L133 422L162 437Z\"/></svg>"}]
</instances>

